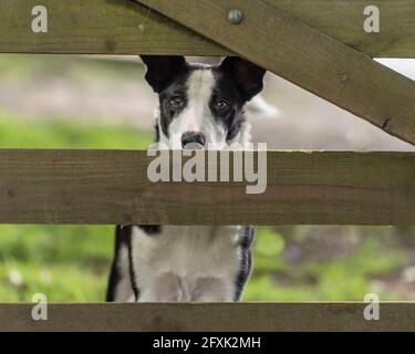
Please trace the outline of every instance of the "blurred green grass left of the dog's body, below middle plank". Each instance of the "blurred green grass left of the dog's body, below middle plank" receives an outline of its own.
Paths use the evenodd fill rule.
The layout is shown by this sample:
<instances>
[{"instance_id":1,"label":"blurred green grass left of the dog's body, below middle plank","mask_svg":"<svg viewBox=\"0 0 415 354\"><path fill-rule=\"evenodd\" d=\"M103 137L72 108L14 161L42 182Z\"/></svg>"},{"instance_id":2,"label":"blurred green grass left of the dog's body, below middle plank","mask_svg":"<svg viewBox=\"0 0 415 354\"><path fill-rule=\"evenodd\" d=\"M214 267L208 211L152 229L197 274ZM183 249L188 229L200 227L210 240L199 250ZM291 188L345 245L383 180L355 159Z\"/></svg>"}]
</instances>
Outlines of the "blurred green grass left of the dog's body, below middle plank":
<instances>
[{"instance_id":1,"label":"blurred green grass left of the dog's body, below middle plank","mask_svg":"<svg viewBox=\"0 0 415 354\"><path fill-rule=\"evenodd\" d=\"M1 226L0 301L38 292L50 301L102 301L112 233L101 226Z\"/></svg>"}]
</instances>

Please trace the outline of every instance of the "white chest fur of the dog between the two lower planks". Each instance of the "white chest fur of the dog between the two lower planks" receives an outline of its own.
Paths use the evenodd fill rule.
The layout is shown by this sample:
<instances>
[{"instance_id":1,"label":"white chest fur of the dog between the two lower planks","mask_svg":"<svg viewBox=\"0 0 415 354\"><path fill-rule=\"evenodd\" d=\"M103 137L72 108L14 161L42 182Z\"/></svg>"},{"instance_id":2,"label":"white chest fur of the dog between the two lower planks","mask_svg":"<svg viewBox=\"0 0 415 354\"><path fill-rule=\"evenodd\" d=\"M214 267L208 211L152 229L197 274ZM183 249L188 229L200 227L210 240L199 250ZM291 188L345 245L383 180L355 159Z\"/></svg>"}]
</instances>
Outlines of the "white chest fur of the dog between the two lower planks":
<instances>
[{"instance_id":1,"label":"white chest fur of the dog between the two lower planks","mask_svg":"<svg viewBox=\"0 0 415 354\"><path fill-rule=\"evenodd\" d=\"M156 236L133 228L139 301L232 301L240 227L163 226Z\"/></svg>"}]
</instances>

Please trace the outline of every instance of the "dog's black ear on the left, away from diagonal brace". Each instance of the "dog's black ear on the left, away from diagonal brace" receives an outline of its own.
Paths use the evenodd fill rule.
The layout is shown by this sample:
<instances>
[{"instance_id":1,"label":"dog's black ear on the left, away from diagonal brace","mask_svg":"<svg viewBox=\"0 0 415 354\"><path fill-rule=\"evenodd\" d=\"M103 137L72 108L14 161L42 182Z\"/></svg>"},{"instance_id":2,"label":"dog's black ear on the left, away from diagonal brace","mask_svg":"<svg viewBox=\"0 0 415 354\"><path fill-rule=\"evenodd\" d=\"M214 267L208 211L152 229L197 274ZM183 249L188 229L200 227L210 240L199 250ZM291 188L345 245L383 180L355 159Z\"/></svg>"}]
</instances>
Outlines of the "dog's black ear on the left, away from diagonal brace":
<instances>
[{"instance_id":1,"label":"dog's black ear on the left, away from diagonal brace","mask_svg":"<svg viewBox=\"0 0 415 354\"><path fill-rule=\"evenodd\" d=\"M160 93L184 70L187 64L178 55L141 55L147 66L146 81L156 93Z\"/></svg>"}]
</instances>

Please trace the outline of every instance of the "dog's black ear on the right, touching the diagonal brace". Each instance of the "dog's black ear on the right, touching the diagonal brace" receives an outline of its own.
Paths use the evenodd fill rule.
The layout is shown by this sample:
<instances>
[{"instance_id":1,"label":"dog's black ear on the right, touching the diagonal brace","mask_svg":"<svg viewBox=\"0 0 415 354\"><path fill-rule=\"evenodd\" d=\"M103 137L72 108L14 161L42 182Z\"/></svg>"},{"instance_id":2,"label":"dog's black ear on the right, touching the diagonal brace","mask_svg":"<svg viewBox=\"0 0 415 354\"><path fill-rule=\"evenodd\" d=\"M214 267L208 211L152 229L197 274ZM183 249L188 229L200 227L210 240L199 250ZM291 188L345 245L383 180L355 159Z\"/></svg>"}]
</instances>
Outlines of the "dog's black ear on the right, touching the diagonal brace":
<instances>
[{"instance_id":1,"label":"dog's black ear on the right, touching the diagonal brace","mask_svg":"<svg viewBox=\"0 0 415 354\"><path fill-rule=\"evenodd\" d=\"M230 74L243 101L251 100L263 87L266 70L238 56L227 56L219 70Z\"/></svg>"}]
</instances>

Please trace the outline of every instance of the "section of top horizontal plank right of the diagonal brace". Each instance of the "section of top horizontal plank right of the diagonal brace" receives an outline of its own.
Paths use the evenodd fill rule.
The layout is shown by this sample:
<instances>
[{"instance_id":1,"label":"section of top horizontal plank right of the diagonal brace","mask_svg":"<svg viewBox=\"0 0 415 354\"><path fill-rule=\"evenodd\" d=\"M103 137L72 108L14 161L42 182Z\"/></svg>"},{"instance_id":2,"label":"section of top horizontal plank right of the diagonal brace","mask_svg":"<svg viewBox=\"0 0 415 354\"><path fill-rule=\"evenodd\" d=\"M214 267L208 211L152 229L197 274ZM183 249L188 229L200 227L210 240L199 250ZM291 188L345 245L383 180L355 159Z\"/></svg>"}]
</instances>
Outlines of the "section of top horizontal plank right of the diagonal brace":
<instances>
[{"instance_id":1,"label":"section of top horizontal plank right of the diagonal brace","mask_svg":"<svg viewBox=\"0 0 415 354\"><path fill-rule=\"evenodd\" d=\"M415 3L411 0L263 0L356 51L375 56L415 58ZM376 6L381 32L363 30L363 10ZM414 39L414 41L413 41Z\"/></svg>"}]
</instances>

